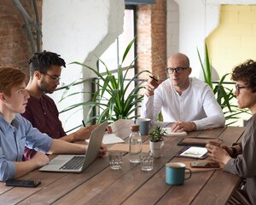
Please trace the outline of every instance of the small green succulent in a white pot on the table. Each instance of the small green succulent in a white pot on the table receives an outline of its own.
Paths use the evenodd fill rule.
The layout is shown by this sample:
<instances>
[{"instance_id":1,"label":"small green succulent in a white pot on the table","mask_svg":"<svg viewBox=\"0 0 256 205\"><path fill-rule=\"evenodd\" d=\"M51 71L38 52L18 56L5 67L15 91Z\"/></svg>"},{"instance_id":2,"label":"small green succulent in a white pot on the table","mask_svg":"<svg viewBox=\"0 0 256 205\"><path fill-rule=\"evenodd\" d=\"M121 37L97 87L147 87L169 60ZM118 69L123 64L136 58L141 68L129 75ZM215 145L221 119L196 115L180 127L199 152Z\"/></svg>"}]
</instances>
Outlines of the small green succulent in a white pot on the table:
<instances>
[{"instance_id":1,"label":"small green succulent in a white pot on the table","mask_svg":"<svg viewBox=\"0 0 256 205\"><path fill-rule=\"evenodd\" d=\"M159 125L155 126L149 131L149 147L154 157L160 157L161 148L164 145L163 136L166 134L166 130L161 128Z\"/></svg>"}]
</instances>

